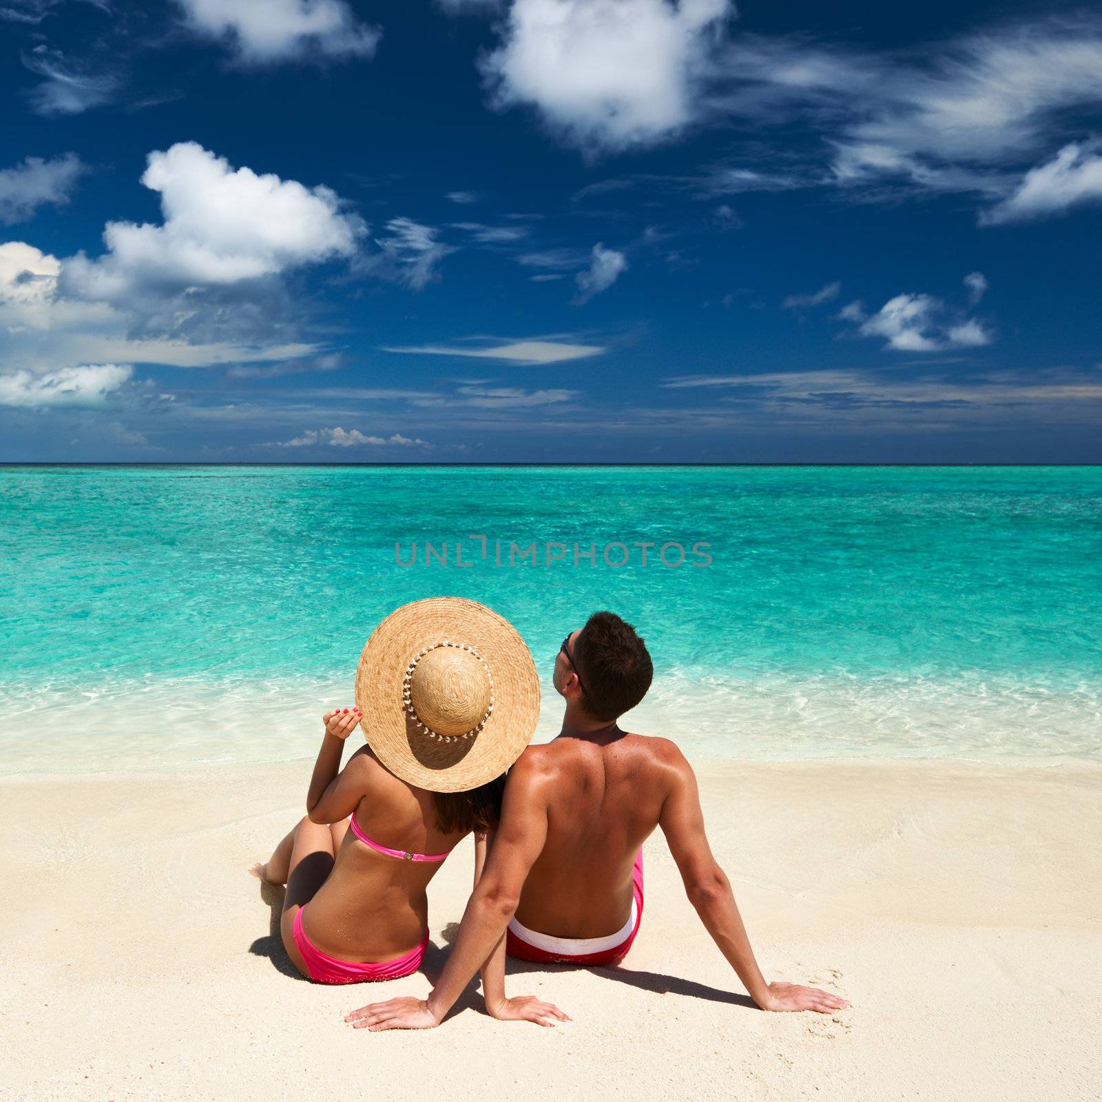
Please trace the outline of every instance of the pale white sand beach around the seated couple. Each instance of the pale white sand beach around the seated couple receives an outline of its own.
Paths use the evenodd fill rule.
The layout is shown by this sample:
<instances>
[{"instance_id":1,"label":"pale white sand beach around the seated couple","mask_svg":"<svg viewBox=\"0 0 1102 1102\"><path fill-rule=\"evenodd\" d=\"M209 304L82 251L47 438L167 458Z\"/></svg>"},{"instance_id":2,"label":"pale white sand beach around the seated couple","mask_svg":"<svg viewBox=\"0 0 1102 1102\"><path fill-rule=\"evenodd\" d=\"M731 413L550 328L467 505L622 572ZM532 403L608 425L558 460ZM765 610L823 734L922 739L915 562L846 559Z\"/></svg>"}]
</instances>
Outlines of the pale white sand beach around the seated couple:
<instances>
[{"instance_id":1,"label":"pale white sand beach around the seated couple","mask_svg":"<svg viewBox=\"0 0 1102 1102\"><path fill-rule=\"evenodd\" d=\"M309 773L300 761L0 784L0 1098L1102 1092L1102 766L703 765L713 849L767 977L838 991L852 1008L754 1008L656 834L642 928L619 969L510 962L511 994L539 993L573 1022L494 1022L472 987L420 1034L342 1017L424 994L423 974L311 984L272 936L280 893L246 869L301 813ZM471 872L467 842L430 888L430 972Z\"/></svg>"}]
</instances>

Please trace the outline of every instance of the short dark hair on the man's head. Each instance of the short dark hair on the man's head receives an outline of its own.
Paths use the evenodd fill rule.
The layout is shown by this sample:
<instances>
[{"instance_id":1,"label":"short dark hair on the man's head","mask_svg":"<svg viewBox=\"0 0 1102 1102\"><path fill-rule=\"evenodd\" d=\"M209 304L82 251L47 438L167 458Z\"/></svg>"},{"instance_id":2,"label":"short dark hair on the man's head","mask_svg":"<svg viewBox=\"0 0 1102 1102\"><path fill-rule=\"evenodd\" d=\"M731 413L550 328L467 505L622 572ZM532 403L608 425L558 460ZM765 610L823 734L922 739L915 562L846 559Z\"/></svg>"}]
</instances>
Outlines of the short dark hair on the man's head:
<instances>
[{"instance_id":1,"label":"short dark hair on the man's head","mask_svg":"<svg viewBox=\"0 0 1102 1102\"><path fill-rule=\"evenodd\" d=\"M655 676L646 644L615 613L594 613L585 622L573 659L585 685L580 703L595 720L609 723L647 695Z\"/></svg>"}]
</instances>

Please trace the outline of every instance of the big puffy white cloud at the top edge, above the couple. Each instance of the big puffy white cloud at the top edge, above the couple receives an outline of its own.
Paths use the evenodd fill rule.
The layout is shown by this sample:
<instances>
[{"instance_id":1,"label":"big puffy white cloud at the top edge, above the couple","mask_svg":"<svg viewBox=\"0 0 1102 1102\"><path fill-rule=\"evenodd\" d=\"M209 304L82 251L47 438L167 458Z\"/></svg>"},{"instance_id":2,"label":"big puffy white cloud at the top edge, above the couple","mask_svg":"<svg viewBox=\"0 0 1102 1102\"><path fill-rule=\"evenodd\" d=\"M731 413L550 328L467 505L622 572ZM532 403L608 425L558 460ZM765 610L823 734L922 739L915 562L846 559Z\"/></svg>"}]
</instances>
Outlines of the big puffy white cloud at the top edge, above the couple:
<instances>
[{"instance_id":1,"label":"big puffy white cloud at the top edge, above the couple","mask_svg":"<svg viewBox=\"0 0 1102 1102\"><path fill-rule=\"evenodd\" d=\"M498 107L530 104L568 141L625 149L682 129L728 0L512 0L483 62Z\"/></svg>"}]
</instances>

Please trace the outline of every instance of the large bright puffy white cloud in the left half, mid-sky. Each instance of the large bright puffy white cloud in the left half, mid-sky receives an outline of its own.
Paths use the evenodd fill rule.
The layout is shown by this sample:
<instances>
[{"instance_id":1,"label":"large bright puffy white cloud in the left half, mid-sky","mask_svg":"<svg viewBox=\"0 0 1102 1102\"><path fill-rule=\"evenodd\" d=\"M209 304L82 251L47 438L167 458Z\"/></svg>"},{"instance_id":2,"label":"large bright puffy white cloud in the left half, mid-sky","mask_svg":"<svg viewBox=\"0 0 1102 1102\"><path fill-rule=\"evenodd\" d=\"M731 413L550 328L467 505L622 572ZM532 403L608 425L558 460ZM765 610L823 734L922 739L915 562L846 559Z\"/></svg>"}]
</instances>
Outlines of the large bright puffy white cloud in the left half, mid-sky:
<instances>
[{"instance_id":1,"label":"large bright puffy white cloud in the left half, mid-sky","mask_svg":"<svg viewBox=\"0 0 1102 1102\"><path fill-rule=\"evenodd\" d=\"M217 287L349 257L363 222L328 187L233 170L196 142L149 155L141 177L161 194L164 222L109 222L107 252L66 261L67 293L126 301L150 288Z\"/></svg>"}]
</instances>

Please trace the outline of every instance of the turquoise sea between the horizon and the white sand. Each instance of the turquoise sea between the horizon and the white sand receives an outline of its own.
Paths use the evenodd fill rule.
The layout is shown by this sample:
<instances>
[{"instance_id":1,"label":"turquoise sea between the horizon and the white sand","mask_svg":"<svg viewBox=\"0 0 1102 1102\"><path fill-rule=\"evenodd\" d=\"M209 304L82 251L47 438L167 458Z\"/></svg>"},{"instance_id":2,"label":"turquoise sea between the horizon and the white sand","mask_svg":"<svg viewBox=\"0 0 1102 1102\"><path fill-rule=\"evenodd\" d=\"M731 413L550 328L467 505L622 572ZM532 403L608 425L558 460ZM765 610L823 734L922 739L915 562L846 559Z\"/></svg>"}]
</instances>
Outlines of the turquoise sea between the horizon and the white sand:
<instances>
[{"instance_id":1,"label":"turquoise sea between the horizon and the white sand","mask_svg":"<svg viewBox=\"0 0 1102 1102\"><path fill-rule=\"evenodd\" d=\"M1099 467L9 466L0 769L312 755L441 594L522 633L540 738L611 608L655 659L630 725L698 758L1102 754Z\"/></svg>"}]
</instances>

